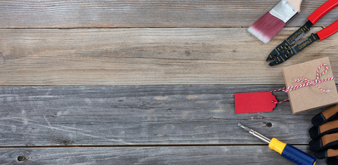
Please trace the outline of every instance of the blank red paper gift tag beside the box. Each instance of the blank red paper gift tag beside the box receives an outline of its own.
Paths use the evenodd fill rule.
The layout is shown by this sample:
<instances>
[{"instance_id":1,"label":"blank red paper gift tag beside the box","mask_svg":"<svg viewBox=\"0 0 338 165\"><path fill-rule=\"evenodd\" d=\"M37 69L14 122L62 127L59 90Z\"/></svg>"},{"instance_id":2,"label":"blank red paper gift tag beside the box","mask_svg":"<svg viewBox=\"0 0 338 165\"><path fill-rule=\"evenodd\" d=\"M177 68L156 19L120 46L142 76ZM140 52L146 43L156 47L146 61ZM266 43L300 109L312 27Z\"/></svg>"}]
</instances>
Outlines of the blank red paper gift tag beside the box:
<instances>
[{"instance_id":1,"label":"blank red paper gift tag beside the box","mask_svg":"<svg viewBox=\"0 0 338 165\"><path fill-rule=\"evenodd\" d=\"M271 112L277 99L270 91L235 94L235 113Z\"/></svg>"}]
</instances>

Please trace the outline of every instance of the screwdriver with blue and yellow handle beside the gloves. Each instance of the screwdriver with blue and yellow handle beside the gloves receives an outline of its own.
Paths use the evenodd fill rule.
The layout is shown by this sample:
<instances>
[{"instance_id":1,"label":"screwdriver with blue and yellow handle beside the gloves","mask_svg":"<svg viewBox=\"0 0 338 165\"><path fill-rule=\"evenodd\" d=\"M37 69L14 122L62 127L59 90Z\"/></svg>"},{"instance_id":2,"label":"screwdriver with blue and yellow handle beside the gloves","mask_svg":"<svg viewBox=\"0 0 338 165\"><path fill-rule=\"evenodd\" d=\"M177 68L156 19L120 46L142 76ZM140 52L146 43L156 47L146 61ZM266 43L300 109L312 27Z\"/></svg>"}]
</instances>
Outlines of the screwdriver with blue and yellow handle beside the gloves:
<instances>
[{"instance_id":1,"label":"screwdriver with blue and yellow handle beside the gloves","mask_svg":"<svg viewBox=\"0 0 338 165\"><path fill-rule=\"evenodd\" d=\"M277 151L277 153L281 154L282 157L285 157L286 159L291 160L295 164L303 164L303 165L315 165L316 164L315 157L308 155L307 153L304 153L303 151L299 150L298 148L295 148L294 146L291 146L290 144L285 144L284 142L280 142L276 138L272 138L270 140L268 137L265 137L264 135L258 133L257 131L253 131L252 129L249 129L247 126L244 126L241 123L238 123L237 126L240 126L242 129L249 131L249 133L251 133L255 137L258 137L263 142L268 143L268 148L271 148Z\"/></svg>"}]
</instances>

